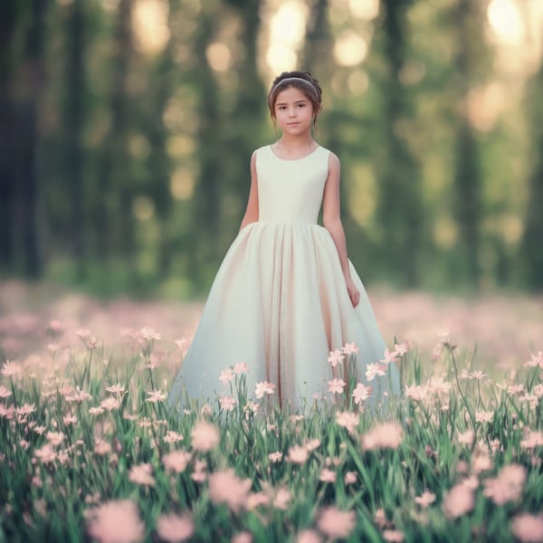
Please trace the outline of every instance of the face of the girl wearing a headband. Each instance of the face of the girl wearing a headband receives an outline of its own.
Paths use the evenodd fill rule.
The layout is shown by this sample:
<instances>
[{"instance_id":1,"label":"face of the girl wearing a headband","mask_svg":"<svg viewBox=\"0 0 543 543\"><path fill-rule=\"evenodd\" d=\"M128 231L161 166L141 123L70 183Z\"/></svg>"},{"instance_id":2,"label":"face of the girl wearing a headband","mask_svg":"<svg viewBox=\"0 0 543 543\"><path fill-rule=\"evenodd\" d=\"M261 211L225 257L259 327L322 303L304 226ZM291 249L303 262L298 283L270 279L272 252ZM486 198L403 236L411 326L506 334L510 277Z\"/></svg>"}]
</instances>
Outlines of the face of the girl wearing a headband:
<instances>
[{"instance_id":1,"label":"face of the girl wearing a headband","mask_svg":"<svg viewBox=\"0 0 543 543\"><path fill-rule=\"evenodd\" d=\"M297 136L311 130L313 104L296 87L289 87L278 93L274 113L283 134Z\"/></svg>"}]
</instances>

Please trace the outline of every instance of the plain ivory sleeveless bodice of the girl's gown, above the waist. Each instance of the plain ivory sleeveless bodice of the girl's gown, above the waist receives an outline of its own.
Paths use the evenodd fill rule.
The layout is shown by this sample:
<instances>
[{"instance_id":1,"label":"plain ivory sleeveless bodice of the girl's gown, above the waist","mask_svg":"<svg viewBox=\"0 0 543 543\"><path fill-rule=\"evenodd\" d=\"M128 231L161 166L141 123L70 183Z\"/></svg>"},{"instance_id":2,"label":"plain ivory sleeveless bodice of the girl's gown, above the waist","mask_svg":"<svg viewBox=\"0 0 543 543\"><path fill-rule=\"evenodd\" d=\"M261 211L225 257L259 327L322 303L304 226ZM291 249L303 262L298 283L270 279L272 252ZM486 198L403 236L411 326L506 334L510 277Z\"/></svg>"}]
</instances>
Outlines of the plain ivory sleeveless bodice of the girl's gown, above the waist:
<instances>
[{"instance_id":1,"label":"plain ivory sleeveless bodice of the girl's gown, above the waist","mask_svg":"<svg viewBox=\"0 0 543 543\"><path fill-rule=\"evenodd\" d=\"M259 222L317 224L328 177L329 150L285 160L271 146L256 151Z\"/></svg>"}]
</instances>

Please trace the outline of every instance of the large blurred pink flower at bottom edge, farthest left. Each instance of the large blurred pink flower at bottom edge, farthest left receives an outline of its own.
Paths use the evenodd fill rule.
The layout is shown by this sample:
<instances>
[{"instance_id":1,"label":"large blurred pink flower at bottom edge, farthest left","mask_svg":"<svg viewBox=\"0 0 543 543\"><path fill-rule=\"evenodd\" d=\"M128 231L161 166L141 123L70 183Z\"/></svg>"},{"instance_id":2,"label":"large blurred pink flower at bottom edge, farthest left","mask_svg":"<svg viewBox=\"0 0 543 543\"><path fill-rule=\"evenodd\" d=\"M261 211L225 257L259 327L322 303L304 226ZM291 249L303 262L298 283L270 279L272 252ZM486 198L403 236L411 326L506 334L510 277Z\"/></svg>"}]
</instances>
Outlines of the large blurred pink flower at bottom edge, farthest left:
<instances>
[{"instance_id":1,"label":"large blurred pink flower at bottom edge, farthest left","mask_svg":"<svg viewBox=\"0 0 543 543\"><path fill-rule=\"evenodd\" d=\"M107 501L85 511L90 538L100 543L135 543L145 536L138 506L131 500Z\"/></svg>"}]
</instances>

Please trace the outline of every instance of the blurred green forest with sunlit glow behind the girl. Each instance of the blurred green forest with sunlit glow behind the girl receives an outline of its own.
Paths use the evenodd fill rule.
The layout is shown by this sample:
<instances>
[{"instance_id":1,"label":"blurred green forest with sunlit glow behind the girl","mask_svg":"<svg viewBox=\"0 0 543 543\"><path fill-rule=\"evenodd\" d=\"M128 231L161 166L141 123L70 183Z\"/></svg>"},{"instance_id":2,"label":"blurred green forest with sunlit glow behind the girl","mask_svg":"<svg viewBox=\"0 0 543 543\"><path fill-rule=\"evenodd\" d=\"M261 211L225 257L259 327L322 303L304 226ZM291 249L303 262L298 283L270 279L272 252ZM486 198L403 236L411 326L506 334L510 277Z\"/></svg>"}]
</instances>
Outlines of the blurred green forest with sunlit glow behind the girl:
<instances>
[{"instance_id":1,"label":"blurred green forest with sunlit glow behind the girl","mask_svg":"<svg viewBox=\"0 0 543 543\"><path fill-rule=\"evenodd\" d=\"M540 291L542 49L541 0L3 0L1 277L205 294L302 69L363 281Z\"/></svg>"}]
</instances>

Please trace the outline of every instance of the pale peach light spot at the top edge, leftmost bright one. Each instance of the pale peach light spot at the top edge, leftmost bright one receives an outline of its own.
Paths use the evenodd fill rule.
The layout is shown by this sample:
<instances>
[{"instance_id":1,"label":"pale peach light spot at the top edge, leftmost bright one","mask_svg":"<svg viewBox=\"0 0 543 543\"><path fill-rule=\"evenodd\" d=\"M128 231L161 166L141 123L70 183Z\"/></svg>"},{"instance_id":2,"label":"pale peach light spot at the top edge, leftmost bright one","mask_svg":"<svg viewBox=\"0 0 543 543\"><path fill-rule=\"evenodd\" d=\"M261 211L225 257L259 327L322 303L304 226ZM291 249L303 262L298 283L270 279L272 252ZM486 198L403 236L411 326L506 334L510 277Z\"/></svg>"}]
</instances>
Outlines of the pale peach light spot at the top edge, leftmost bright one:
<instances>
[{"instance_id":1,"label":"pale peach light spot at the top edge, leftmost bright one","mask_svg":"<svg viewBox=\"0 0 543 543\"><path fill-rule=\"evenodd\" d=\"M132 26L138 50L148 54L161 52L170 39L167 25L167 0L137 0L132 12Z\"/></svg>"}]
</instances>

